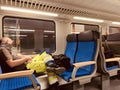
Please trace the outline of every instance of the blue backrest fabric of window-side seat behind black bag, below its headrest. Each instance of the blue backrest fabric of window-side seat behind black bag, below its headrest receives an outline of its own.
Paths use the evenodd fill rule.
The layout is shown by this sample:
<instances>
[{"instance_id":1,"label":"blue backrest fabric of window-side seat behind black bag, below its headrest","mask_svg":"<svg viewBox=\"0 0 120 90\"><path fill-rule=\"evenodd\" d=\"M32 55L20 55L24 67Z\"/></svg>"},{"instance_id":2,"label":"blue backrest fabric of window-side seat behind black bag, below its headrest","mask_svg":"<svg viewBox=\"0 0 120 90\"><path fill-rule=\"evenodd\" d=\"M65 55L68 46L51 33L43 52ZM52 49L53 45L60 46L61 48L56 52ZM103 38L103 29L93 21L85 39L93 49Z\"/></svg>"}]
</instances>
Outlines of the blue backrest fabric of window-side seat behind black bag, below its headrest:
<instances>
[{"instance_id":1,"label":"blue backrest fabric of window-side seat behind black bag, below its headrest","mask_svg":"<svg viewBox=\"0 0 120 90\"><path fill-rule=\"evenodd\" d=\"M74 63L74 56L77 49L77 42L67 42L65 55L70 58L71 65Z\"/></svg>"}]
</instances>

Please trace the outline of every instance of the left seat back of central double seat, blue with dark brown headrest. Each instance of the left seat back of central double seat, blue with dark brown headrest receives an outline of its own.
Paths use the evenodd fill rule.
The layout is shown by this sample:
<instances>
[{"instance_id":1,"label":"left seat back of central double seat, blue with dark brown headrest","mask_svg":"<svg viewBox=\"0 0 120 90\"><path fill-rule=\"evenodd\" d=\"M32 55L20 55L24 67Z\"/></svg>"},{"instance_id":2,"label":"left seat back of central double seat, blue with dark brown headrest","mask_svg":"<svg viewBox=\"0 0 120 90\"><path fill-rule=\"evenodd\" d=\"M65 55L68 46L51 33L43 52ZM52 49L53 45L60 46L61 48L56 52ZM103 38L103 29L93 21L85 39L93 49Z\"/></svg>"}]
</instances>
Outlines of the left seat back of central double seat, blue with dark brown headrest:
<instances>
[{"instance_id":1,"label":"left seat back of central double seat, blue with dark brown headrest","mask_svg":"<svg viewBox=\"0 0 120 90\"><path fill-rule=\"evenodd\" d=\"M69 34L66 40L67 40L67 44L64 54L70 58L70 63L72 65L75 62L75 53L77 49L77 35Z\"/></svg>"}]
</instances>

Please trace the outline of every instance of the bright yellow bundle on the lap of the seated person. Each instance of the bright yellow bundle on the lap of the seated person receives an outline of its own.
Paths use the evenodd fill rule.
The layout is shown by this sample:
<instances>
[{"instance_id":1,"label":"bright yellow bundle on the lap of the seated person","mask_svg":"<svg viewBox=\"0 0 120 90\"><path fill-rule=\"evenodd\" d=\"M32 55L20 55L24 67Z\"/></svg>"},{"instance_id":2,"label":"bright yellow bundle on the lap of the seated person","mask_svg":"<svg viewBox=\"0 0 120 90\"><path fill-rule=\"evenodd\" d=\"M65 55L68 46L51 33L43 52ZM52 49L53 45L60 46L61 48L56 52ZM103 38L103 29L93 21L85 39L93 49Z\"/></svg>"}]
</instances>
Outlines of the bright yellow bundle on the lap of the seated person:
<instances>
[{"instance_id":1,"label":"bright yellow bundle on the lap of the seated person","mask_svg":"<svg viewBox=\"0 0 120 90\"><path fill-rule=\"evenodd\" d=\"M32 59L31 63L26 65L27 69L35 70L36 73L41 73L46 71L46 65L44 62L44 57L46 56L46 52L42 54L38 54Z\"/></svg>"}]
</instances>

